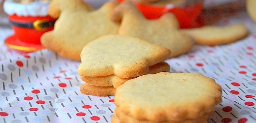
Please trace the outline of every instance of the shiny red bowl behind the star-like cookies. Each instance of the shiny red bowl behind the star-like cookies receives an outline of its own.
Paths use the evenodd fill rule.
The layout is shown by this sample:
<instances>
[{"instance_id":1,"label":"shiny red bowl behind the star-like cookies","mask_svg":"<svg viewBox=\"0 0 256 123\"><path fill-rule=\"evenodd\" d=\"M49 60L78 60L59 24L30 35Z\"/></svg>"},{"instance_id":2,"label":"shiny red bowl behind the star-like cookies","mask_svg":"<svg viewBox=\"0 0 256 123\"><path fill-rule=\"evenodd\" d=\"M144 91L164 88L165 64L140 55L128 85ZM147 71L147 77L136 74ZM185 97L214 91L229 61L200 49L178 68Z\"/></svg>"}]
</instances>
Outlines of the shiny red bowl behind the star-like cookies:
<instances>
[{"instance_id":1,"label":"shiny red bowl behind the star-like cookies","mask_svg":"<svg viewBox=\"0 0 256 123\"><path fill-rule=\"evenodd\" d=\"M123 0L117 1L122 2ZM177 17L180 28L196 28L204 25L202 18L200 17L203 9L202 4L173 8L168 8L166 6L142 5L137 3L135 3L135 6L147 19L158 19L164 13L171 12Z\"/></svg>"}]
</instances>

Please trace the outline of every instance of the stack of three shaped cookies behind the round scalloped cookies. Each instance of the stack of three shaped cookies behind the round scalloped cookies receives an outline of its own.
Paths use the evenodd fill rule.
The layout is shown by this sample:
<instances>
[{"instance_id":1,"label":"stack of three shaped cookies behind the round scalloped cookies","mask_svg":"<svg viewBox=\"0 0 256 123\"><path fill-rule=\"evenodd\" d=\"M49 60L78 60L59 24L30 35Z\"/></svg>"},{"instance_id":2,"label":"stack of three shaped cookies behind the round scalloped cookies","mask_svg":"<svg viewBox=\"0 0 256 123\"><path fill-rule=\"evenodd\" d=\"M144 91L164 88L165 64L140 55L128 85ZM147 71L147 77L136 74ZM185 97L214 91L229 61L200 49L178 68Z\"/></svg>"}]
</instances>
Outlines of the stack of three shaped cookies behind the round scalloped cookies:
<instances>
[{"instance_id":1,"label":"stack of three shaped cookies behind the round scalloped cookies","mask_svg":"<svg viewBox=\"0 0 256 123\"><path fill-rule=\"evenodd\" d=\"M169 72L164 60L171 51L140 38L105 35L83 48L78 72L86 82L80 91L86 95L115 95L116 88L129 79L145 74Z\"/></svg>"}]
</instances>

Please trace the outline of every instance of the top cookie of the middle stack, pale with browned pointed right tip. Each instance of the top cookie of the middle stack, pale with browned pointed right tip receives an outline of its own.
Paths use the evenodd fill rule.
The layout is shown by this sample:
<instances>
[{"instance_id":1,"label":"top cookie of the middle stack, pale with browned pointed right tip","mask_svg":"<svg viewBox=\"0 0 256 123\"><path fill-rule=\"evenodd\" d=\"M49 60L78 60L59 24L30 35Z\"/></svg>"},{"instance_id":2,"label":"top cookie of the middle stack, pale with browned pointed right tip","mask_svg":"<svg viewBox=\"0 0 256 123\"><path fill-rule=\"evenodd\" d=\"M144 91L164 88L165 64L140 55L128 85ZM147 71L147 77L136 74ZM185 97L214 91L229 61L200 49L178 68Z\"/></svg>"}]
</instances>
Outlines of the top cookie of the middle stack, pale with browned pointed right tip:
<instances>
[{"instance_id":1,"label":"top cookie of the middle stack, pale with browned pointed right tip","mask_svg":"<svg viewBox=\"0 0 256 123\"><path fill-rule=\"evenodd\" d=\"M84 46L78 73L89 77L137 77L148 72L149 66L163 62L170 55L169 49L140 38L105 35Z\"/></svg>"}]
</instances>

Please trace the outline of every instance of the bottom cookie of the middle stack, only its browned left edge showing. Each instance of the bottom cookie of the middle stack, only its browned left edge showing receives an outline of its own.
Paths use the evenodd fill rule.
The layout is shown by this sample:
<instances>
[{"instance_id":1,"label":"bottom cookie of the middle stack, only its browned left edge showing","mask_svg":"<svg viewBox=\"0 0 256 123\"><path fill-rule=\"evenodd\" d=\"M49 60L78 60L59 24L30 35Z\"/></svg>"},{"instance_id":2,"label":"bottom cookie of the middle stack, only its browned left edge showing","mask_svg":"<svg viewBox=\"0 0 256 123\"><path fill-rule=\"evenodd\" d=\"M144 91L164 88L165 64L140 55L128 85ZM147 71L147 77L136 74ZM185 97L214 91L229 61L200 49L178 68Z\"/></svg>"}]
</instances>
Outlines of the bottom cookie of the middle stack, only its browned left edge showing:
<instances>
[{"instance_id":1,"label":"bottom cookie of the middle stack, only its browned left edge showing","mask_svg":"<svg viewBox=\"0 0 256 123\"><path fill-rule=\"evenodd\" d=\"M115 96L116 89L113 86L99 87L85 83L82 86L80 86L80 92L84 95L105 97Z\"/></svg>"}]
</instances>

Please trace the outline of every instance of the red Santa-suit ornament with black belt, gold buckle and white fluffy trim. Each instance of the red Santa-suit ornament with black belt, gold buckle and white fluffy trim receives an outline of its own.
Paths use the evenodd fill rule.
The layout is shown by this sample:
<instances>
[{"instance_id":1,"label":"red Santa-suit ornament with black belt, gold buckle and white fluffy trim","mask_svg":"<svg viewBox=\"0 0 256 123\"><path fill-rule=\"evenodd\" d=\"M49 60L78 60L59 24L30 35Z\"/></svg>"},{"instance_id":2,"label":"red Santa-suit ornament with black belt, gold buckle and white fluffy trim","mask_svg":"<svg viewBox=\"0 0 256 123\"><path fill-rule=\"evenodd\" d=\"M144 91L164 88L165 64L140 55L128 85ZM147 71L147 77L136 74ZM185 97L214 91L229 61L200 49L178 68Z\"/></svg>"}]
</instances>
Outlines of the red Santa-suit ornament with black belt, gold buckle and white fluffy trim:
<instances>
[{"instance_id":1,"label":"red Santa-suit ornament with black belt, gold buckle and white fluffy trim","mask_svg":"<svg viewBox=\"0 0 256 123\"><path fill-rule=\"evenodd\" d=\"M48 15L49 4L50 0L5 0L4 11L14 30L5 44L21 52L43 49L40 37L53 30L56 21Z\"/></svg>"}]
</instances>

